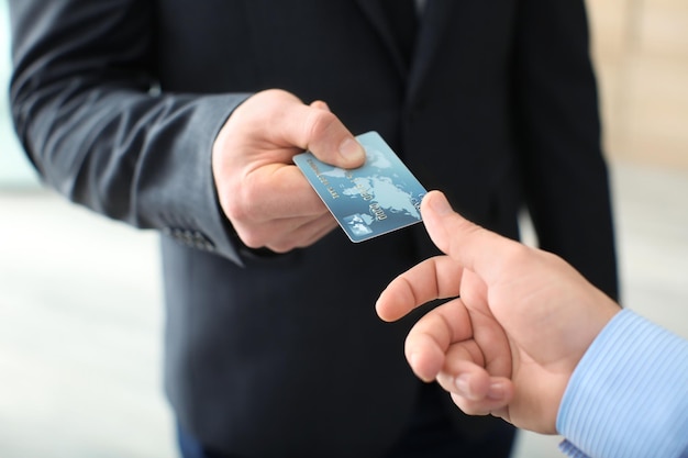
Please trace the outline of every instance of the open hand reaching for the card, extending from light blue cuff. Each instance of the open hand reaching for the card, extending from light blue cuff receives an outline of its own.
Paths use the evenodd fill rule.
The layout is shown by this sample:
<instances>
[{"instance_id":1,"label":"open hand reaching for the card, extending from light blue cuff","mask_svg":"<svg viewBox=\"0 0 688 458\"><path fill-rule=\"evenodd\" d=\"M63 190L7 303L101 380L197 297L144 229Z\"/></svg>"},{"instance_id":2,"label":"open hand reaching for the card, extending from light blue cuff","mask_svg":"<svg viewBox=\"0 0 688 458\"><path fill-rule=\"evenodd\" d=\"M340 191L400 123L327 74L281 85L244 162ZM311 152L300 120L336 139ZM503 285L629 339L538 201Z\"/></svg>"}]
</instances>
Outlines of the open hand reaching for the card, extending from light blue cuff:
<instances>
[{"instance_id":1,"label":"open hand reaching for the card, extending from light blue cuff","mask_svg":"<svg viewBox=\"0 0 688 458\"><path fill-rule=\"evenodd\" d=\"M376 308L398 320L434 299L406 342L418 377L436 379L468 414L556 433L573 370L620 310L555 255L501 237L452 211L444 196L421 204L425 227L447 256L396 278Z\"/></svg>"}]
</instances>

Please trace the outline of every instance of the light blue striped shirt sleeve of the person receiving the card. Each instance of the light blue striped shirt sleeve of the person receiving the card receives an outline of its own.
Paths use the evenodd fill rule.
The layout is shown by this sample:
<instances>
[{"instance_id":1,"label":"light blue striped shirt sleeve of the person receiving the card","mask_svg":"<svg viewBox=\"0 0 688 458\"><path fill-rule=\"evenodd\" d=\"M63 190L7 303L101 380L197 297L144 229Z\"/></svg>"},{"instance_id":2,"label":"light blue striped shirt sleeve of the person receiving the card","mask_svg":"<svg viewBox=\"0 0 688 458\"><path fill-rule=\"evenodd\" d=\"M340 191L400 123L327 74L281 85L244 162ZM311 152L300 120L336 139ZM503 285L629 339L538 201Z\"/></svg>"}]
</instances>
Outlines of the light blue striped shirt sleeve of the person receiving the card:
<instances>
[{"instance_id":1,"label":"light blue striped shirt sleeve of the person receiving the card","mask_svg":"<svg viewBox=\"0 0 688 458\"><path fill-rule=\"evenodd\" d=\"M574 371L557 431L575 458L688 457L688 340L618 313Z\"/></svg>"}]
</instances>

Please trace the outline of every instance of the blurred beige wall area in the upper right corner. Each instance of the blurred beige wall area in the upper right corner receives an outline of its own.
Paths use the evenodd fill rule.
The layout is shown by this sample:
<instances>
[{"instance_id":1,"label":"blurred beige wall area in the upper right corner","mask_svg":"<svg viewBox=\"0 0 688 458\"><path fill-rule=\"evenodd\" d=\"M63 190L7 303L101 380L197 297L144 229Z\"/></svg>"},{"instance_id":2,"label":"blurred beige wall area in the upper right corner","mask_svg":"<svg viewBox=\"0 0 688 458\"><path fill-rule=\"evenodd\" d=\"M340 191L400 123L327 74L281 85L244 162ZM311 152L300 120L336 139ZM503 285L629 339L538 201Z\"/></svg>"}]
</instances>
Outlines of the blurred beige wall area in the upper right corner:
<instances>
[{"instance_id":1,"label":"blurred beige wall area in the upper right corner","mask_svg":"<svg viewBox=\"0 0 688 458\"><path fill-rule=\"evenodd\" d=\"M587 0L611 158L688 170L688 0Z\"/></svg>"}]
</instances>

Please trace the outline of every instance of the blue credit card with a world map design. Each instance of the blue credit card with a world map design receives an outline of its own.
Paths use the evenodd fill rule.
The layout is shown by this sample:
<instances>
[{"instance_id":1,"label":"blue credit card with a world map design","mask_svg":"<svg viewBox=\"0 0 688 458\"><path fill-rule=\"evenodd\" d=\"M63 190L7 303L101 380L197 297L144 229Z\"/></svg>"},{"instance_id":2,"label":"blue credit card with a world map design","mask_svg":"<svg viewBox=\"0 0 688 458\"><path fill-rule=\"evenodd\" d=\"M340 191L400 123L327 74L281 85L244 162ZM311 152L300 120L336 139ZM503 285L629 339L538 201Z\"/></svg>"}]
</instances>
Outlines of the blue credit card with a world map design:
<instances>
[{"instance_id":1,"label":"blue credit card with a world map design","mask_svg":"<svg viewBox=\"0 0 688 458\"><path fill-rule=\"evenodd\" d=\"M306 152L293 157L352 242L363 242L420 222L425 188L377 132L356 137L366 163L343 169Z\"/></svg>"}]
</instances>

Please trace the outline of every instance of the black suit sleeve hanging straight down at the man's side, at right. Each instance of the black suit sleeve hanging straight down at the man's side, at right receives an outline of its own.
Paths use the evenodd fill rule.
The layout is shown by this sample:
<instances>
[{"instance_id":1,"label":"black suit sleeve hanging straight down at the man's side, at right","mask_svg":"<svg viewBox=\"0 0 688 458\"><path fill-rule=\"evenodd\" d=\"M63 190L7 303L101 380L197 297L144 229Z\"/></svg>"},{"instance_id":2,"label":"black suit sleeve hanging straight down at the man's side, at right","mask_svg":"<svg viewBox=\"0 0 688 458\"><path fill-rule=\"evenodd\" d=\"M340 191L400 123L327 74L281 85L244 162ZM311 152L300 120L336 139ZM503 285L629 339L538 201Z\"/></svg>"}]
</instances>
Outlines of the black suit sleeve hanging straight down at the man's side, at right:
<instances>
[{"instance_id":1,"label":"black suit sleeve hanging straight down at the man's side, at right","mask_svg":"<svg viewBox=\"0 0 688 458\"><path fill-rule=\"evenodd\" d=\"M540 245L618 299L609 179L584 2L524 0L518 23L515 132Z\"/></svg>"}]
</instances>

